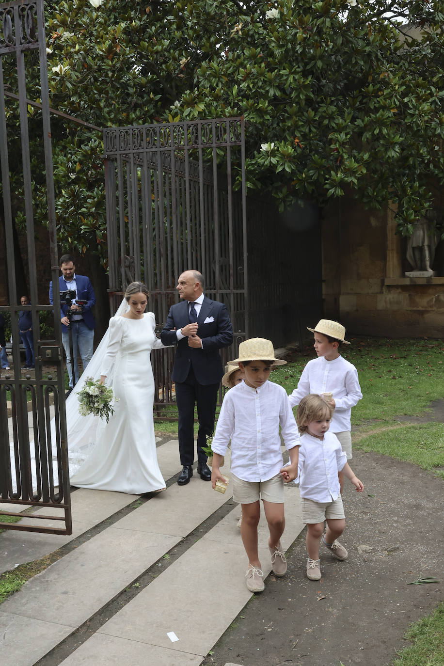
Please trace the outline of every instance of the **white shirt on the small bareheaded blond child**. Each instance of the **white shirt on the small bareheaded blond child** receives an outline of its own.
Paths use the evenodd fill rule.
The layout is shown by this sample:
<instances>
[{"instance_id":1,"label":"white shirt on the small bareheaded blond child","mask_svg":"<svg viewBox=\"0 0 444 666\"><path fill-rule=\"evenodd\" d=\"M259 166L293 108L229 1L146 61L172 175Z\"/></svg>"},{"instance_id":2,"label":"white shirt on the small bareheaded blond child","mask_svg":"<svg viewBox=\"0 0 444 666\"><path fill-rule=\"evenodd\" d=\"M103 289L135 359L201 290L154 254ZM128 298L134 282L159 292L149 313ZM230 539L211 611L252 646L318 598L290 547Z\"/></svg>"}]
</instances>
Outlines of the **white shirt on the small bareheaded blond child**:
<instances>
[{"instance_id":1,"label":"white shirt on the small bareheaded blond child","mask_svg":"<svg viewBox=\"0 0 444 666\"><path fill-rule=\"evenodd\" d=\"M346 462L347 454L333 432L326 432L322 440L304 432L298 458L300 496L319 502L337 500L341 493L337 472Z\"/></svg>"}]
</instances>

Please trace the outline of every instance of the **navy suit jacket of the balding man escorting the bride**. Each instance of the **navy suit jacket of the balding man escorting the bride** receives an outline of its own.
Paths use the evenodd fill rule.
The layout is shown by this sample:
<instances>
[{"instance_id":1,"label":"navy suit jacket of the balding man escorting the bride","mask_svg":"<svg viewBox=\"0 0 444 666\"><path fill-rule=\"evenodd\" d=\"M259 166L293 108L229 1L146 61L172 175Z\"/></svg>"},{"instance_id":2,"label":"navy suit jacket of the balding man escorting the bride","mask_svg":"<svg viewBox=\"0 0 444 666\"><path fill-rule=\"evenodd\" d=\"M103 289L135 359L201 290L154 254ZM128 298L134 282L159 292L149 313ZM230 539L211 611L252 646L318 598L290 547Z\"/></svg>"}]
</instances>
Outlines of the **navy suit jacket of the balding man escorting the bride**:
<instances>
[{"instance_id":1,"label":"navy suit jacket of the balding man escorting the bride","mask_svg":"<svg viewBox=\"0 0 444 666\"><path fill-rule=\"evenodd\" d=\"M210 319L210 322L206 320ZM206 322L206 323L205 323ZM188 346L188 337L177 341L176 330L190 323L188 301L182 300L171 306L160 340L165 345L176 344L172 380L184 382L192 368L198 384L217 384L224 375L219 350L233 342L233 327L224 304L204 297L198 316L197 334L202 340L202 349ZM172 330L172 329L176 330Z\"/></svg>"}]
</instances>

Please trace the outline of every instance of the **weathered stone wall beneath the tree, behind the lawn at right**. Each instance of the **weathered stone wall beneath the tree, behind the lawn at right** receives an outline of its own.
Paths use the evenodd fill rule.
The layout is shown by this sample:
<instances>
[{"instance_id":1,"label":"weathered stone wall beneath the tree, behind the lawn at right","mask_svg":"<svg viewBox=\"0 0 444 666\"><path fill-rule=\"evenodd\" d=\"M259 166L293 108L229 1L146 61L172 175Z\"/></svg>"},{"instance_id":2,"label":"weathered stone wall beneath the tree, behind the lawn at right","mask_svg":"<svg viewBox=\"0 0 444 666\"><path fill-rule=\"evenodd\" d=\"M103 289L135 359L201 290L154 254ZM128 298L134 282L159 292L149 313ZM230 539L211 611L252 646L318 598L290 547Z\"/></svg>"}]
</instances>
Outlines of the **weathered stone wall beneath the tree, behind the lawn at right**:
<instances>
[{"instance_id":1,"label":"weathered stone wall beneath the tree, behind the lawn at right","mask_svg":"<svg viewBox=\"0 0 444 666\"><path fill-rule=\"evenodd\" d=\"M442 243L442 241L441 241ZM443 338L444 277L406 278L391 210L341 200L324 210L324 316L357 335ZM439 276L441 275L441 276Z\"/></svg>"}]
</instances>

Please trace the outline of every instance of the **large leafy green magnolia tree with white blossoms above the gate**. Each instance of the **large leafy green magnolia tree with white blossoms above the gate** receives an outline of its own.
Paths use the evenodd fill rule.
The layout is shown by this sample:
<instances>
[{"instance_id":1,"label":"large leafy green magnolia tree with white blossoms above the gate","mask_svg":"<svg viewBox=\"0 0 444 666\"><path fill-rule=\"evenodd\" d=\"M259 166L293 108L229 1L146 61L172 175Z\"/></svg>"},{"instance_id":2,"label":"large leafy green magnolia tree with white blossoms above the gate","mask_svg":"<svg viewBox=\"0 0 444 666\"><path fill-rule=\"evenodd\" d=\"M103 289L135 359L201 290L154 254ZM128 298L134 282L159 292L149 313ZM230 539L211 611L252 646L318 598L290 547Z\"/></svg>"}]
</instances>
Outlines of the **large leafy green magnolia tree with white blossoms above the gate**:
<instances>
[{"instance_id":1,"label":"large leafy green magnolia tree with white blossoms above the gate","mask_svg":"<svg viewBox=\"0 0 444 666\"><path fill-rule=\"evenodd\" d=\"M59 111L97 127L243 115L248 187L282 209L344 194L393 202L409 234L441 202L441 0L62 0L45 11ZM101 133L57 117L52 131L59 238L100 252Z\"/></svg>"}]
</instances>

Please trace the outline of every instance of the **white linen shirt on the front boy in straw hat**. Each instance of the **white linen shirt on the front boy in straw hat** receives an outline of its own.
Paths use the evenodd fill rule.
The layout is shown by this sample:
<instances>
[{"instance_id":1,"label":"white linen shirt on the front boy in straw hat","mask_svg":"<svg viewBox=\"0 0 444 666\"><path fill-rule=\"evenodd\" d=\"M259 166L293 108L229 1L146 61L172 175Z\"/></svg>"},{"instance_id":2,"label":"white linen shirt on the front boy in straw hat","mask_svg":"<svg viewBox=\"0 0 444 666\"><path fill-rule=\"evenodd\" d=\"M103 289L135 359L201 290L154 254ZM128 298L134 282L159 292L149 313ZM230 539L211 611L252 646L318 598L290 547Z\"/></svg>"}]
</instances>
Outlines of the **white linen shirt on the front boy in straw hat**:
<instances>
[{"instance_id":1,"label":"white linen shirt on the front boy in straw hat","mask_svg":"<svg viewBox=\"0 0 444 666\"><path fill-rule=\"evenodd\" d=\"M287 450L300 446L286 390L270 380L257 389L242 381L224 397L211 448L224 456L231 440L232 473L244 481L267 481L284 464L279 426Z\"/></svg>"}]
</instances>

